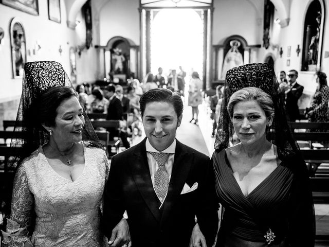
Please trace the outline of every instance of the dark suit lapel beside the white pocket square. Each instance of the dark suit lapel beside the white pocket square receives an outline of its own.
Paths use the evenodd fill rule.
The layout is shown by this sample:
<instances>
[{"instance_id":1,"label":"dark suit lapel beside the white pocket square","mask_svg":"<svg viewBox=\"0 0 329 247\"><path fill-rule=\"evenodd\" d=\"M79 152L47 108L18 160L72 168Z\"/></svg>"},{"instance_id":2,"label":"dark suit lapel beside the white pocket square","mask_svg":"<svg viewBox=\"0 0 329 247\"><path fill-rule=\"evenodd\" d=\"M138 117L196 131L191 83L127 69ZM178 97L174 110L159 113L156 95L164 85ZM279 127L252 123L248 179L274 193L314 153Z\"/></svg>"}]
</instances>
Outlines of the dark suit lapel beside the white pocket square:
<instances>
[{"instance_id":1,"label":"dark suit lapel beside the white pocket square","mask_svg":"<svg viewBox=\"0 0 329 247\"><path fill-rule=\"evenodd\" d=\"M194 154L188 153L184 146L176 139L176 150L174 165L171 172L171 178L168 193L165 202L163 202L163 213L161 217L161 225L165 224L166 219L176 203L181 190L187 180Z\"/></svg>"}]
</instances>

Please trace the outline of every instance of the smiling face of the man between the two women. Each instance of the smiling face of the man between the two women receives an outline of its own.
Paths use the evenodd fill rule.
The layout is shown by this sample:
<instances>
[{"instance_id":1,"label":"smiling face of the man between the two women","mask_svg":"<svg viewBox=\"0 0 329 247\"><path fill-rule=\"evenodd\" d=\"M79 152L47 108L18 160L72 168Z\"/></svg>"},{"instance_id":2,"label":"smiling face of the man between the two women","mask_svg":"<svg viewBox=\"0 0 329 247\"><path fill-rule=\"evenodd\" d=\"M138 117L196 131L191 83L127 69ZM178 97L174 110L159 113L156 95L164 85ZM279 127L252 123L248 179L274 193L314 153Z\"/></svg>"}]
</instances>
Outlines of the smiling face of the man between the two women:
<instances>
[{"instance_id":1,"label":"smiling face of the man between the two women","mask_svg":"<svg viewBox=\"0 0 329 247\"><path fill-rule=\"evenodd\" d=\"M150 144L158 151L168 148L175 139L182 115L177 117L172 104L167 102L147 103L143 126Z\"/></svg>"}]
</instances>

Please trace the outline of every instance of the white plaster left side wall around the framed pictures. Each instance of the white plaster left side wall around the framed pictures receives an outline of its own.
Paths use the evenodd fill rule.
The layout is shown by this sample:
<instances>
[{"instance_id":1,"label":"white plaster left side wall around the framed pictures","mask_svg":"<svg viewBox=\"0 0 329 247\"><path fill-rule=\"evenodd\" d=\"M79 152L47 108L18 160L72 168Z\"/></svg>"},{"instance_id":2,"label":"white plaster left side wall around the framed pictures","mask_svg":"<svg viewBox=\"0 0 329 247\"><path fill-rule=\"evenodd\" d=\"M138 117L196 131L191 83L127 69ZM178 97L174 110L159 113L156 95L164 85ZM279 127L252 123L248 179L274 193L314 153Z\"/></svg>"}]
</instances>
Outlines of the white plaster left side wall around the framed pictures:
<instances>
[{"instance_id":1,"label":"white plaster left side wall around the framed pictures","mask_svg":"<svg viewBox=\"0 0 329 247\"><path fill-rule=\"evenodd\" d=\"M5 30L5 37L0 45L0 102L16 99L22 93L22 78L12 79L11 48L9 29L13 17L19 17L25 29L27 62L57 61L60 62L70 77L69 47L84 42L85 34L81 38L76 30L66 25L66 9L64 0L61 0L61 23L48 19L47 1L39 1L39 15L31 15L23 11L0 4L0 26ZM82 39L82 40L81 40ZM41 49L33 55L36 41ZM62 54L59 47L62 48ZM93 47L84 51L81 58L77 56L77 81L95 81L93 62ZM31 55L28 55L30 50ZM86 67L88 69L86 69Z\"/></svg>"}]
</instances>

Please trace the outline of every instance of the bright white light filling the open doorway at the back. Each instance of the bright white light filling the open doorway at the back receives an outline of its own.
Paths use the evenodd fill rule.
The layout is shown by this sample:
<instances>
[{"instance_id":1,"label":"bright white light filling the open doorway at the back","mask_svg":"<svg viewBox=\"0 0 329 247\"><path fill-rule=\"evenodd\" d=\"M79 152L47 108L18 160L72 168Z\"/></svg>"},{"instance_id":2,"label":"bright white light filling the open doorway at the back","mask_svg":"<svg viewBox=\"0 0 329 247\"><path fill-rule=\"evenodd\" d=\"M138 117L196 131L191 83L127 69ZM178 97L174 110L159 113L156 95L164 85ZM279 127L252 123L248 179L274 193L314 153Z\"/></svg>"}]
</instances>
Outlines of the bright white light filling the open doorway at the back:
<instances>
[{"instance_id":1,"label":"bright white light filling the open doorway at the back","mask_svg":"<svg viewBox=\"0 0 329 247\"><path fill-rule=\"evenodd\" d=\"M151 72L163 74L179 66L189 76L203 74L203 15L193 9L162 9L151 22ZM187 78L186 78L187 79Z\"/></svg>"}]
</instances>

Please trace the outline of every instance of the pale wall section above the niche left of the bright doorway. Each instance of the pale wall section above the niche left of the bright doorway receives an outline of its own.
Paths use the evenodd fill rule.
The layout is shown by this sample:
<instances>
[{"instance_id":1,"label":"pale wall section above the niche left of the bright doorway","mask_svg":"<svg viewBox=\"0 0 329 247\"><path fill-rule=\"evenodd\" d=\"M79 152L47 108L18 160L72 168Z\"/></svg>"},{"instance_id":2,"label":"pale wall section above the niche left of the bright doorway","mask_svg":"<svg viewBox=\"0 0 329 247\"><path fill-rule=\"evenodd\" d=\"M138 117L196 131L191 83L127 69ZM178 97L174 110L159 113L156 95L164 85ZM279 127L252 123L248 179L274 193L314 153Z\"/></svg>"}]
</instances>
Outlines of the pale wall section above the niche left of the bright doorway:
<instances>
[{"instance_id":1,"label":"pale wall section above the niche left of the bright doorway","mask_svg":"<svg viewBox=\"0 0 329 247\"><path fill-rule=\"evenodd\" d=\"M138 7L138 0L109 1L100 12L100 45L106 45L115 36L131 39L139 45Z\"/></svg>"}]
</instances>

